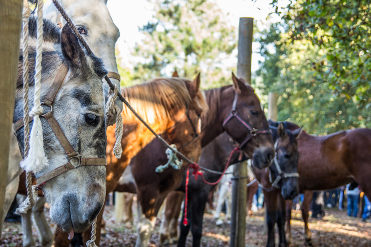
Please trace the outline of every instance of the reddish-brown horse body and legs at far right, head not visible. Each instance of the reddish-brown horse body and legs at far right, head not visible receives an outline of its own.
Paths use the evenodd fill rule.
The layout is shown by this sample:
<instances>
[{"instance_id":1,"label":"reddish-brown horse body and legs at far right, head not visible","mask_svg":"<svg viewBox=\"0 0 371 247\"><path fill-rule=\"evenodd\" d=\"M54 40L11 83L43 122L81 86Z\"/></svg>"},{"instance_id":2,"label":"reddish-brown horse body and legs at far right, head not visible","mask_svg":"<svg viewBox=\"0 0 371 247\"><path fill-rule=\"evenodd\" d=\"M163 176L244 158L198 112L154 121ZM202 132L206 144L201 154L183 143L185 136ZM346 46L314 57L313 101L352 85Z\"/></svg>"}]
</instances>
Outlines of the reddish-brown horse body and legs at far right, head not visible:
<instances>
[{"instance_id":1,"label":"reddish-brown horse body and legs at far right, head not visible","mask_svg":"<svg viewBox=\"0 0 371 247\"><path fill-rule=\"evenodd\" d=\"M303 132L298 138L298 172L300 192L304 193L302 215L305 240L311 244L308 228L309 203L312 191L327 190L356 181L371 198L371 130L352 129L326 136ZM287 206L286 238L291 242L290 219L292 201Z\"/></svg>"}]
</instances>

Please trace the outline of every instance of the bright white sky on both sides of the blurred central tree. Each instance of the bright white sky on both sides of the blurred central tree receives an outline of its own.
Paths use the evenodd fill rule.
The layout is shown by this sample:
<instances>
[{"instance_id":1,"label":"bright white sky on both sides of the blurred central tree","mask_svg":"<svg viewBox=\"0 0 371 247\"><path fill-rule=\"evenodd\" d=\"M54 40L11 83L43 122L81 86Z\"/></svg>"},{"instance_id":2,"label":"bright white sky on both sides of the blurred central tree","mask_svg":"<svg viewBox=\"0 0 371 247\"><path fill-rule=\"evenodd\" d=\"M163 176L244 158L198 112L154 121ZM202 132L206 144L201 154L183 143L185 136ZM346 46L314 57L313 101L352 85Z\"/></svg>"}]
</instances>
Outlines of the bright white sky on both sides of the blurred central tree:
<instances>
[{"instance_id":1,"label":"bright white sky on both sides of the blurred central tree","mask_svg":"<svg viewBox=\"0 0 371 247\"><path fill-rule=\"evenodd\" d=\"M260 29L264 28L268 23L278 21L279 17L273 12L269 5L272 0L212 0L215 1L225 14L229 13L230 21L238 30L240 17L252 17L258 22ZM143 35L139 33L138 27L142 27L152 19L154 15L153 6L147 0L108 0L108 10L111 14L113 22L120 30L120 38L117 41L118 48L121 53L122 63L124 66L131 68L133 57L130 55L130 50L134 48L135 43L140 42ZM253 43L253 51L256 51L259 45ZM233 63L237 65L237 53ZM252 71L258 69L258 61L261 57L257 53L252 56Z\"/></svg>"}]
</instances>

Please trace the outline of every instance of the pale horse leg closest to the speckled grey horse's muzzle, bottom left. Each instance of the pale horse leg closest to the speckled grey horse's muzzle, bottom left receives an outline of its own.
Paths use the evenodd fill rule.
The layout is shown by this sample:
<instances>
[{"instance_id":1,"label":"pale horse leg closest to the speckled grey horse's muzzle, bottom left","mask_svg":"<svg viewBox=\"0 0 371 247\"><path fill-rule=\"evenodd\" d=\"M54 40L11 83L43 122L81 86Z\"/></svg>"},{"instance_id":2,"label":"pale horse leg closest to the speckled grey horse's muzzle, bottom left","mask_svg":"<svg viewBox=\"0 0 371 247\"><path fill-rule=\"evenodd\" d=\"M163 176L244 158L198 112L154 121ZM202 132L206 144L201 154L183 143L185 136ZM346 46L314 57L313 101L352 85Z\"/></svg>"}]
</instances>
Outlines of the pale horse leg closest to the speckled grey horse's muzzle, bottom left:
<instances>
[{"instance_id":1,"label":"pale horse leg closest to the speckled grey horse's muzzle, bottom left","mask_svg":"<svg viewBox=\"0 0 371 247\"><path fill-rule=\"evenodd\" d=\"M34 213L35 222L41 236L41 245L50 247L53 244L54 235L45 217L44 204L44 197L39 196L35 206L32 208L32 212Z\"/></svg>"}]
</instances>

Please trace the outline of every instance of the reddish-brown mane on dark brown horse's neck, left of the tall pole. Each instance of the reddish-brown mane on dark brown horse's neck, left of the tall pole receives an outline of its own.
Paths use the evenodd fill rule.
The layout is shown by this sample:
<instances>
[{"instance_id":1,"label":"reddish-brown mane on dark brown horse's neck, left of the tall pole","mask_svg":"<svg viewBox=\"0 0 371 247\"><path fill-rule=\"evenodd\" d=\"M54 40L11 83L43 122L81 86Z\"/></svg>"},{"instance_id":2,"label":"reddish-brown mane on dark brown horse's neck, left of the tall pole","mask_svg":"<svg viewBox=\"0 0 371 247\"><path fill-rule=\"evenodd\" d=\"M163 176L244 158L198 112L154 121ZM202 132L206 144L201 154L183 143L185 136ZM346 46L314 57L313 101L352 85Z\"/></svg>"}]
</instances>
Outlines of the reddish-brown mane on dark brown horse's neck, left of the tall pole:
<instances>
[{"instance_id":1,"label":"reddish-brown mane on dark brown horse's neck, left of the tall pole","mask_svg":"<svg viewBox=\"0 0 371 247\"><path fill-rule=\"evenodd\" d=\"M221 88L213 88L205 91L206 102L209 106L207 114L202 115L202 125L209 126L214 124L218 117L218 111L221 104L221 95L224 90L233 87L233 85L223 86Z\"/></svg>"}]
</instances>

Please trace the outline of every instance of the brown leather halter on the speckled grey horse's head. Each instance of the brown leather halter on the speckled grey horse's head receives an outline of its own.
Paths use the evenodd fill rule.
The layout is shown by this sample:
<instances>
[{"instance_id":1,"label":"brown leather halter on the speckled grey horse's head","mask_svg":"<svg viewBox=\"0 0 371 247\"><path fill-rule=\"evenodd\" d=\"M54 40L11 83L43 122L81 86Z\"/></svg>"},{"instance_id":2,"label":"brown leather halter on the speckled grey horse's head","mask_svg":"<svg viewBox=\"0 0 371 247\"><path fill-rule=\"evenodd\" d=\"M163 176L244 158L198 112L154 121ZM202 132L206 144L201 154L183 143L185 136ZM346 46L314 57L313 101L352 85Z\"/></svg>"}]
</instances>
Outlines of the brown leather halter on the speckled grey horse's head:
<instances>
[{"instance_id":1,"label":"brown leather halter on the speckled grey horse's head","mask_svg":"<svg viewBox=\"0 0 371 247\"><path fill-rule=\"evenodd\" d=\"M52 84L52 87L50 88L47 97L45 98L44 102L42 102L42 105L45 105L50 108L50 111L47 113L43 113L41 117L44 117L47 122L49 123L52 131L56 135L59 143L62 145L62 148L66 152L68 156L68 162L66 164L63 164L57 168L55 168L52 171L49 171L43 175L41 175L37 179L37 187L40 189L40 186L45 184L50 179L59 176L71 169L75 169L80 166L84 165L107 165L106 158L85 158L82 157L78 152L75 152L73 147L71 146L70 142L67 140L65 134L63 133L61 127L59 126L57 120L54 118L54 115L52 114L53 111L53 101L59 91L59 89L62 86L62 83L64 82L66 75L68 73L68 65L63 63L61 68L59 69L59 72L54 79L54 82ZM30 123L33 121L33 119L30 120ZM18 120L15 124L13 124L13 131L14 134L16 134L20 129L24 127L23 118Z\"/></svg>"}]
</instances>

